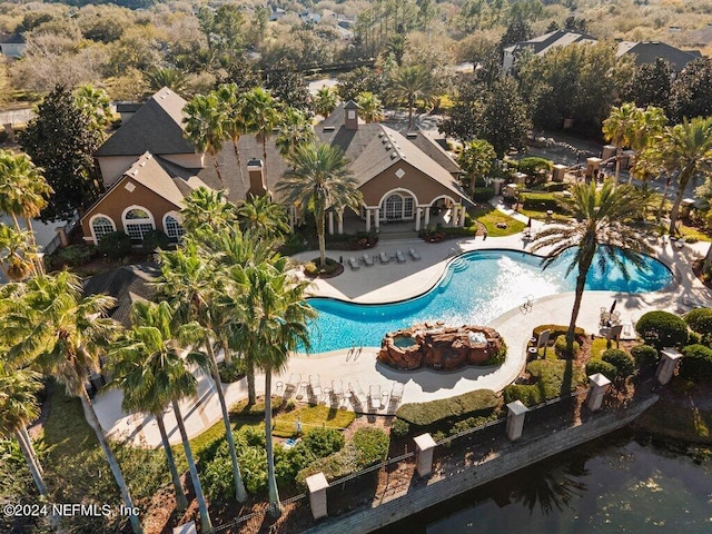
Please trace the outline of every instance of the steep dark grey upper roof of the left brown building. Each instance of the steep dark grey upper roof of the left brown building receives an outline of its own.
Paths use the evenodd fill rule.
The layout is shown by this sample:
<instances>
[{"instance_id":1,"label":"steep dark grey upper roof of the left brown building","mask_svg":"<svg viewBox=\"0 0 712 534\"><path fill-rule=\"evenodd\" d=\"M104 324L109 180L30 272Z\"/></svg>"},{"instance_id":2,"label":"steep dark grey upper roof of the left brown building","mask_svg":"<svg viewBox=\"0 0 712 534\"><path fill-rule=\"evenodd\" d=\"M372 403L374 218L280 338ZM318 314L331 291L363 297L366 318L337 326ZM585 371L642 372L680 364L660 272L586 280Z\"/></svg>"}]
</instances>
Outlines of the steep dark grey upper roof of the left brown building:
<instances>
[{"instance_id":1,"label":"steep dark grey upper roof of the left brown building","mask_svg":"<svg viewBox=\"0 0 712 534\"><path fill-rule=\"evenodd\" d=\"M184 137L182 108L186 100L164 87L97 150L96 156L195 154Z\"/></svg>"}]
</instances>

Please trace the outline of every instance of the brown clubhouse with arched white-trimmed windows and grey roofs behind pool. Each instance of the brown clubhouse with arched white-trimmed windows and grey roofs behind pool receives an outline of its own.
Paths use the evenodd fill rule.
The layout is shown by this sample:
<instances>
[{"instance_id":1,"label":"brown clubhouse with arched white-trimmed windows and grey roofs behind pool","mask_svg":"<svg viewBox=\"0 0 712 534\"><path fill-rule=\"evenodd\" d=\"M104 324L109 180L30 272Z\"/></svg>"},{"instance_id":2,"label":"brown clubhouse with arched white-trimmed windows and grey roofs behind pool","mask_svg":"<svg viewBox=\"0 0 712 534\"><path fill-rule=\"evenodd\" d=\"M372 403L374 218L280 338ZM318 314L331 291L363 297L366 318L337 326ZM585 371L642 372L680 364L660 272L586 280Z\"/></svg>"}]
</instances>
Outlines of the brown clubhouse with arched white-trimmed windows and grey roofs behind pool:
<instances>
[{"instance_id":1,"label":"brown clubhouse with arched white-trimmed windows and grey roofs behind pool","mask_svg":"<svg viewBox=\"0 0 712 534\"><path fill-rule=\"evenodd\" d=\"M123 231L138 245L154 229L177 241L184 231L182 201L199 187L227 189L235 204L248 195L280 201L276 186L288 165L274 136L267 140L266 158L255 136L241 136L239 164L226 144L217 156L220 180L212 158L184 137L185 105L169 89L159 90L97 150L106 192L81 218L86 241L97 244L106 234ZM365 123L353 101L315 129L319 142L344 150L364 198L356 211L329 209L330 234L344 233L344 225L349 233L380 231L382 225L394 222L409 230L429 224L464 226L471 201L459 187L463 171L432 136ZM293 225L301 221L298 206L287 210Z\"/></svg>"}]
</instances>

